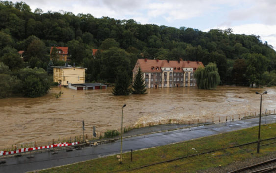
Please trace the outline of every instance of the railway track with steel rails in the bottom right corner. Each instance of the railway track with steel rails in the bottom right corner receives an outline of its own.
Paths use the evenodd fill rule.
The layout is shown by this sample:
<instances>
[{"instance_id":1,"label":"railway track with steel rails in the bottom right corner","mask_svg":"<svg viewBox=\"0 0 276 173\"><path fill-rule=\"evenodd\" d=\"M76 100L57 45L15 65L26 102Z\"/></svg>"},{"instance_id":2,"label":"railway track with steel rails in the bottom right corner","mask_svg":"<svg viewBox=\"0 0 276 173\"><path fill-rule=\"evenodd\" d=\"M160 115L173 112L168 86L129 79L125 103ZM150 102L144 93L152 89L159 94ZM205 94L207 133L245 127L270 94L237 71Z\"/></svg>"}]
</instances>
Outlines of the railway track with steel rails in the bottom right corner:
<instances>
[{"instance_id":1,"label":"railway track with steel rails in the bottom right corner","mask_svg":"<svg viewBox=\"0 0 276 173\"><path fill-rule=\"evenodd\" d=\"M228 173L276 173L276 158L250 165Z\"/></svg>"}]
</instances>

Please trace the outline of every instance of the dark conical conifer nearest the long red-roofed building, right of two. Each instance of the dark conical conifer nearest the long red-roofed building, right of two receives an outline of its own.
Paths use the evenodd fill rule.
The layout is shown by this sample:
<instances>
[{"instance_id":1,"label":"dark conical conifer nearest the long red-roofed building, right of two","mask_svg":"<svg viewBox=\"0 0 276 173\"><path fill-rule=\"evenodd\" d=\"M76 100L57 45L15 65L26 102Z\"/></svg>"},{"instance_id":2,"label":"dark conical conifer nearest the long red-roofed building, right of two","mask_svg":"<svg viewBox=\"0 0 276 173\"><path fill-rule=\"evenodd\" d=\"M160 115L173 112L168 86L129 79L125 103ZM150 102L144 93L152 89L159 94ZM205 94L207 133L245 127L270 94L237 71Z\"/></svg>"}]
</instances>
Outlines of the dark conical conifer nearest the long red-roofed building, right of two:
<instances>
[{"instance_id":1,"label":"dark conical conifer nearest the long red-roofed building, right of two","mask_svg":"<svg viewBox=\"0 0 276 173\"><path fill-rule=\"evenodd\" d=\"M138 72L135 75L132 87L133 87L132 94L147 94L145 80L143 78L140 67L138 68Z\"/></svg>"}]
</instances>

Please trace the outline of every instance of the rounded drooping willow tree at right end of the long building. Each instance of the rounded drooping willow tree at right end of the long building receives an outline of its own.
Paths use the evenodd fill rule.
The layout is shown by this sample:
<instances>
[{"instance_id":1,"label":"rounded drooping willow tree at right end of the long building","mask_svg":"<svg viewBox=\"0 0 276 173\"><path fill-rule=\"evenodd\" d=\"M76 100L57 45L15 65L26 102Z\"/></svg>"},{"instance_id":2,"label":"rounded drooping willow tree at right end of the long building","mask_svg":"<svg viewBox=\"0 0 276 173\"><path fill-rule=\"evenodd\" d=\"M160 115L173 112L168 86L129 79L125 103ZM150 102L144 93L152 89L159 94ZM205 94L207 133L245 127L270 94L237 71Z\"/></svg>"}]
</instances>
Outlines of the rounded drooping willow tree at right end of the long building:
<instances>
[{"instance_id":1,"label":"rounded drooping willow tree at right end of the long building","mask_svg":"<svg viewBox=\"0 0 276 173\"><path fill-rule=\"evenodd\" d=\"M212 89L220 82L220 75L215 63L209 63L206 67L199 67L195 72L199 89Z\"/></svg>"}]
</instances>

